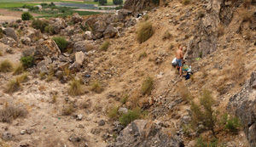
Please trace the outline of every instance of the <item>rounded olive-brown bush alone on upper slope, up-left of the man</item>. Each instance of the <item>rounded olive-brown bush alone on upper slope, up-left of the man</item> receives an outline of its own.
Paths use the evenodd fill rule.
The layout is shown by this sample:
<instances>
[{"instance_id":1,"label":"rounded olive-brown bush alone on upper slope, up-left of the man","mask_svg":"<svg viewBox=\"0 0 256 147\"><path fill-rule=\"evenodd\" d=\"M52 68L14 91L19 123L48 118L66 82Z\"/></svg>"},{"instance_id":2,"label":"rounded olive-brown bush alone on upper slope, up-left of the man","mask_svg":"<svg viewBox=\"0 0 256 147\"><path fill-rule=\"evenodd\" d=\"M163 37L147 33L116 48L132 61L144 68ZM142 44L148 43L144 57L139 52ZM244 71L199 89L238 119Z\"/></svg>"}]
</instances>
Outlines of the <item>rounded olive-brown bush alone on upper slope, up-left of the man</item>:
<instances>
[{"instance_id":1,"label":"rounded olive-brown bush alone on upper slope, up-left of the man","mask_svg":"<svg viewBox=\"0 0 256 147\"><path fill-rule=\"evenodd\" d=\"M137 30L137 40L138 42L146 42L154 34L152 23L146 21L139 25Z\"/></svg>"}]
</instances>

